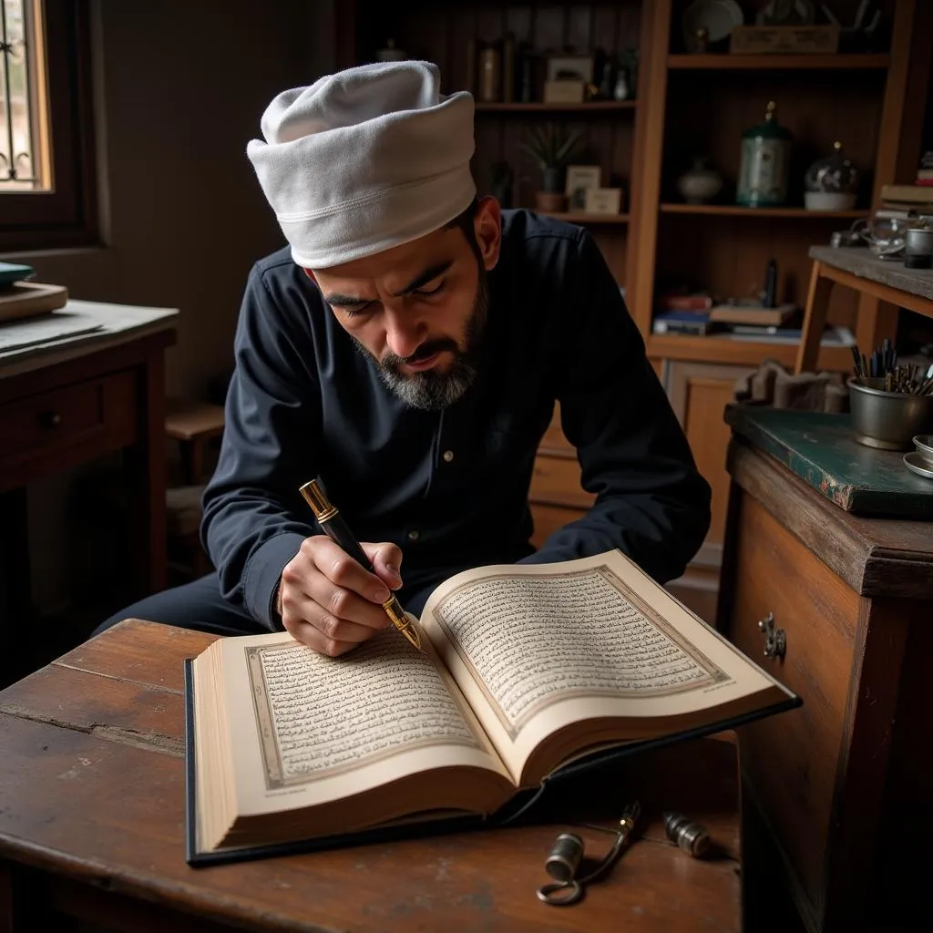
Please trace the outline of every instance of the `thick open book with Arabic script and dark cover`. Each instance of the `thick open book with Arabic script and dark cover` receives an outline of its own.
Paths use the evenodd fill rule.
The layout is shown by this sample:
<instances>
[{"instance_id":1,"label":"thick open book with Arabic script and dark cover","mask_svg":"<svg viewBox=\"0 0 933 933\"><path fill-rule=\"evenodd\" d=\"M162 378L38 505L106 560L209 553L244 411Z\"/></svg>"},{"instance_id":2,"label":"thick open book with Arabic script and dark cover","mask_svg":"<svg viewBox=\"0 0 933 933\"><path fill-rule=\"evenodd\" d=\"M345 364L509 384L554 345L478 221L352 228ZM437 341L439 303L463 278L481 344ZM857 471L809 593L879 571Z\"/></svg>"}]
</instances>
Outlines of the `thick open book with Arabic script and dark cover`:
<instances>
[{"instance_id":1,"label":"thick open book with Arabic script and dark cover","mask_svg":"<svg viewBox=\"0 0 933 933\"><path fill-rule=\"evenodd\" d=\"M596 750L800 702L615 550L465 571L420 623L423 651L389 627L340 658L264 634L188 662L190 862L494 815Z\"/></svg>"}]
</instances>

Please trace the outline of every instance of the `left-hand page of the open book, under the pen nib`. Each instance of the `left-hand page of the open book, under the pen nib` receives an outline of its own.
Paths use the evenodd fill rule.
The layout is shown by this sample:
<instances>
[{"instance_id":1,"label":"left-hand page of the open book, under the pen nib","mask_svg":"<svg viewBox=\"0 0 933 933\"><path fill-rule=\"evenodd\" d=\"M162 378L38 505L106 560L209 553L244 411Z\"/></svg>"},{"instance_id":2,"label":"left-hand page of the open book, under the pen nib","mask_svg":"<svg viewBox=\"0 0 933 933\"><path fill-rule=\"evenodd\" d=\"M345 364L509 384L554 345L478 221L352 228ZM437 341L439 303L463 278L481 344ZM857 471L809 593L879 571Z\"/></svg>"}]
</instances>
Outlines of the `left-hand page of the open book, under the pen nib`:
<instances>
[{"instance_id":1,"label":"left-hand page of the open book, under the pen nib","mask_svg":"<svg viewBox=\"0 0 933 933\"><path fill-rule=\"evenodd\" d=\"M350 796L429 767L506 773L433 649L417 651L395 629L341 658L289 634L226 639L221 650L241 815Z\"/></svg>"}]
</instances>

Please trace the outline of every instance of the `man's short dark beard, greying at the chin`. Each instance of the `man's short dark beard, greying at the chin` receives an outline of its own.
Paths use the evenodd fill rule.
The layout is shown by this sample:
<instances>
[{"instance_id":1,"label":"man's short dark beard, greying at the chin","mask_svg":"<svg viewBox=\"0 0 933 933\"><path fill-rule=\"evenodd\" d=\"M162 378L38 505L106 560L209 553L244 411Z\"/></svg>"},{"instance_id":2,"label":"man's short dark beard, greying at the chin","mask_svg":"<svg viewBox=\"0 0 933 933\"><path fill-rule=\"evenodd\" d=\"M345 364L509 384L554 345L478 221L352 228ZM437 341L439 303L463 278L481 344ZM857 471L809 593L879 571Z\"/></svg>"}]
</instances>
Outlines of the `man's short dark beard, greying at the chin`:
<instances>
[{"instance_id":1,"label":"man's short dark beard, greying at the chin","mask_svg":"<svg viewBox=\"0 0 933 933\"><path fill-rule=\"evenodd\" d=\"M477 376L482 333L489 314L489 286L486 271L480 266L479 284L473 311L466 322L463 346L450 338L425 341L410 356L398 356L391 351L376 359L362 343L354 338L356 348L375 363L389 389L411 408L439 411L447 408L464 395ZM441 371L437 367L425 372L406 375L400 369L405 363L417 363L442 351L453 354L453 363Z\"/></svg>"}]
</instances>

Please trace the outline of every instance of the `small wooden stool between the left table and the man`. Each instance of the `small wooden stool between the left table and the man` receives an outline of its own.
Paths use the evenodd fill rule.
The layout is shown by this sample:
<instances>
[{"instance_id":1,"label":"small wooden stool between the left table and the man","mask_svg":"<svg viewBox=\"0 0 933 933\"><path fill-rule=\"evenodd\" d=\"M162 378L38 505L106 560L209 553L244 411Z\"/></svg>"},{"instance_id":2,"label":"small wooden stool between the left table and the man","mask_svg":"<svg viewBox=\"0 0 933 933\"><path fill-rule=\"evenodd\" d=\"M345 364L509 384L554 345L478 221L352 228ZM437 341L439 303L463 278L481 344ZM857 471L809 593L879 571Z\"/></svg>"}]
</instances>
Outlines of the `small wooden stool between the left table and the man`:
<instances>
[{"instance_id":1,"label":"small wooden stool between the left table and the man","mask_svg":"<svg viewBox=\"0 0 933 933\"><path fill-rule=\"evenodd\" d=\"M165 494L169 564L190 578L202 577L211 569L199 536L201 497L207 480L204 459L207 445L223 431L224 410L219 405L184 398L167 400L165 434L178 444L182 482Z\"/></svg>"}]
</instances>

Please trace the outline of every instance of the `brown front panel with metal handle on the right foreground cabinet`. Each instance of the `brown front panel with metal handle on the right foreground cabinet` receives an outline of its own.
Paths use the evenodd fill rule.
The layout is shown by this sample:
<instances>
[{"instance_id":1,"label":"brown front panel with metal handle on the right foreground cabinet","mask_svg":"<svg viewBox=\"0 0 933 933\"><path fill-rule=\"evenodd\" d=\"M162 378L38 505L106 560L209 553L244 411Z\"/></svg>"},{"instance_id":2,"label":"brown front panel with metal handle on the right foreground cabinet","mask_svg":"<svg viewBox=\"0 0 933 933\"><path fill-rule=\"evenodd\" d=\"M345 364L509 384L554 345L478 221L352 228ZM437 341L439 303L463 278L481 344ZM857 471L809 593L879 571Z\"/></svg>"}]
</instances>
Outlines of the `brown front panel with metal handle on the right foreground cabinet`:
<instances>
[{"instance_id":1,"label":"brown front panel with metal handle on the right foreground cabinet","mask_svg":"<svg viewBox=\"0 0 933 933\"><path fill-rule=\"evenodd\" d=\"M788 586L787 581L794 585ZM819 623L814 624L814 616ZM785 634L784 659L763 655L759 620ZM855 648L858 596L792 536L757 499L742 505L731 640L749 658L808 698L792 716L743 731L745 771L779 826L802 893L820 903L836 759ZM766 622L767 624L767 622ZM780 764L773 763L780 749Z\"/></svg>"}]
</instances>

